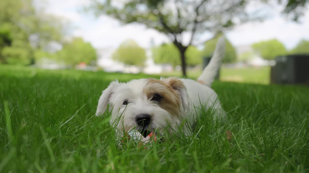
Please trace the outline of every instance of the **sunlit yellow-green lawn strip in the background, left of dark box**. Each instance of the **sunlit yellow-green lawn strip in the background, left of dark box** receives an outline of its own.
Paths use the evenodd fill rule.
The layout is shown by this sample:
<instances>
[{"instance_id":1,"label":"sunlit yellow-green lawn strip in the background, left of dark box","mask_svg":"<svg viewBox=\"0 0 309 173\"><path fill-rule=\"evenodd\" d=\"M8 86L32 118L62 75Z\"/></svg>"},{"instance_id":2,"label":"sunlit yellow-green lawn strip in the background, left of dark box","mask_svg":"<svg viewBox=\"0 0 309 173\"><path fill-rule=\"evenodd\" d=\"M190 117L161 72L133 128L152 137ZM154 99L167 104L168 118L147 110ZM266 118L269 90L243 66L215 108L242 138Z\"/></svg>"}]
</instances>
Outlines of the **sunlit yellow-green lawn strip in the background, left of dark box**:
<instances>
[{"instance_id":1,"label":"sunlit yellow-green lawn strip in the background, left of dark box","mask_svg":"<svg viewBox=\"0 0 309 173\"><path fill-rule=\"evenodd\" d=\"M198 78L201 75L201 70L188 70L188 77ZM162 75L182 76L180 71L163 72ZM241 83L256 83L269 84L270 67L259 68L226 68L222 67L220 70L220 81L241 82Z\"/></svg>"}]
</instances>

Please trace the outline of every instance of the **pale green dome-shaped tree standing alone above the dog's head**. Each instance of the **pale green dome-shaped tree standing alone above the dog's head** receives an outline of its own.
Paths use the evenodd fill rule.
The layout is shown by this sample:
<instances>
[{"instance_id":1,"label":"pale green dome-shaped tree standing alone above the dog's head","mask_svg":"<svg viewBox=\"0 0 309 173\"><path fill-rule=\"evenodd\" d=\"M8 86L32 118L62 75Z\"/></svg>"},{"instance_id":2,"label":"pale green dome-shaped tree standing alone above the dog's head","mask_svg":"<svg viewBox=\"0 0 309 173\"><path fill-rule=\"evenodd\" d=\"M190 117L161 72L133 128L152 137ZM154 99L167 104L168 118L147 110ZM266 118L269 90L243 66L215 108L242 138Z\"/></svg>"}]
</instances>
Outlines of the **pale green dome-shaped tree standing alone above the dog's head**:
<instances>
[{"instance_id":1,"label":"pale green dome-shaped tree standing alone above the dog's head","mask_svg":"<svg viewBox=\"0 0 309 173\"><path fill-rule=\"evenodd\" d=\"M133 40L126 40L121 43L112 54L112 59L125 63L126 65L144 66L146 61L146 51L138 46Z\"/></svg>"}]
</instances>

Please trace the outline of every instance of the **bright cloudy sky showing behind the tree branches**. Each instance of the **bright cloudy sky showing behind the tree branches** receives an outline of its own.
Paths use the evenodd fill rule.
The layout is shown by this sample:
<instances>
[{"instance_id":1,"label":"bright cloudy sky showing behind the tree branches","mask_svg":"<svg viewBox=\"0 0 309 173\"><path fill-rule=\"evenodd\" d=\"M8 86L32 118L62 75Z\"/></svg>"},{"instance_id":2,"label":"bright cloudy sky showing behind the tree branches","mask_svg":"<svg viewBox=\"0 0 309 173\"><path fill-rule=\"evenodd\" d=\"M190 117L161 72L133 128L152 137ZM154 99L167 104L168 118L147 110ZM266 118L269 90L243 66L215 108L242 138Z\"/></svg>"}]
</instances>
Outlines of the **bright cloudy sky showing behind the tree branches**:
<instances>
[{"instance_id":1,"label":"bright cloudy sky showing behind the tree branches","mask_svg":"<svg viewBox=\"0 0 309 173\"><path fill-rule=\"evenodd\" d=\"M81 9L87 6L90 0L47 0L45 11L50 14L62 16L68 19L74 29L71 35L82 37L90 42L95 48L116 48L127 39L135 40L140 46L148 48L151 40L155 45L169 42L166 35L153 29L148 29L142 24L121 25L117 20L106 15L96 18ZM248 10L257 8L257 4L248 7ZM281 41L287 49L292 49L301 39L309 40L309 10L305 12L301 23L286 20L281 14L282 7L274 6L265 9L271 17L264 22L248 22L236 26L226 32L227 39L234 46L246 46L255 42L276 38ZM189 40L189 34L184 33L185 42ZM212 33L205 32L199 36L201 40L212 37Z\"/></svg>"}]
</instances>

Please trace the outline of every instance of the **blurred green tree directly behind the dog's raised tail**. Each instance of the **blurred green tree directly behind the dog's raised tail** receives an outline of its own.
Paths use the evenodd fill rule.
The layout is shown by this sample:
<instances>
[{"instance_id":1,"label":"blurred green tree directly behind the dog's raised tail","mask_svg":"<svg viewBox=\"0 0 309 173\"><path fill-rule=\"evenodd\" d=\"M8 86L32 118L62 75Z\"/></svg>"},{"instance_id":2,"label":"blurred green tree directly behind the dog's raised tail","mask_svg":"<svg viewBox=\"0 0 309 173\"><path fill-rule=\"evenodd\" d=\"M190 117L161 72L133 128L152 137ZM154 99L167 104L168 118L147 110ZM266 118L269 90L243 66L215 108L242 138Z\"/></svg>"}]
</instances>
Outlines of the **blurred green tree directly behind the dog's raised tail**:
<instances>
[{"instance_id":1,"label":"blurred green tree directly behind the dog's raised tail","mask_svg":"<svg viewBox=\"0 0 309 173\"><path fill-rule=\"evenodd\" d=\"M205 48L203 55L206 57L212 57L214 49L216 47L218 39L222 36L222 33L218 32L216 36L209 41L205 42ZM225 41L225 56L223 57L223 63L231 63L236 61L236 50L233 45L226 39Z\"/></svg>"}]
</instances>

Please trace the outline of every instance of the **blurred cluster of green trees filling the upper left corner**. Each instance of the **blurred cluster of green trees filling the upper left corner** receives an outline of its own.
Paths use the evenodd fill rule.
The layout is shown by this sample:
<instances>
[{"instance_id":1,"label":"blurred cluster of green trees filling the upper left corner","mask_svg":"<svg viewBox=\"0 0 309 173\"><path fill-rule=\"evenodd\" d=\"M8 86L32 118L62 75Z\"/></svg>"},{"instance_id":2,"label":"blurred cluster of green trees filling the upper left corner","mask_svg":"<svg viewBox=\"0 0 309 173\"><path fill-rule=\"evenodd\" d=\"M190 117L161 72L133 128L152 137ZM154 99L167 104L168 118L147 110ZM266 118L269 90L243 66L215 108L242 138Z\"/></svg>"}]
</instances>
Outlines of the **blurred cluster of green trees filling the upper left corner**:
<instances>
[{"instance_id":1,"label":"blurred cluster of green trees filling the upper left corner","mask_svg":"<svg viewBox=\"0 0 309 173\"><path fill-rule=\"evenodd\" d=\"M46 57L75 65L96 59L89 43L68 39L69 22L36 9L33 3L0 1L0 63L33 65Z\"/></svg>"}]
</instances>

